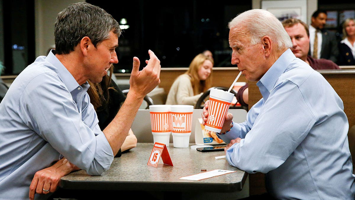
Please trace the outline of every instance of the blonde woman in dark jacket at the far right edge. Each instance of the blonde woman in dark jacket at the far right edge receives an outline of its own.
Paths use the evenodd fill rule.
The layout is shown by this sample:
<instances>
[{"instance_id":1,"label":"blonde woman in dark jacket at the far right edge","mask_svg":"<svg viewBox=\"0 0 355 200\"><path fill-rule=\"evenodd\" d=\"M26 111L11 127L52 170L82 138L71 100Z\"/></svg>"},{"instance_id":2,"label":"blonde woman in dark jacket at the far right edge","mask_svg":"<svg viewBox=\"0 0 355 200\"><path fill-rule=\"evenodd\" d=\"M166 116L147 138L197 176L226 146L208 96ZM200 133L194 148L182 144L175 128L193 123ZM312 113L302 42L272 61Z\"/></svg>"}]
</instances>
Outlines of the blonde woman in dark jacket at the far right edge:
<instances>
[{"instance_id":1,"label":"blonde woman in dark jacket at the far right edge","mask_svg":"<svg viewBox=\"0 0 355 200\"><path fill-rule=\"evenodd\" d=\"M338 65L355 65L355 20L348 18L343 23L343 40L339 44Z\"/></svg>"}]
</instances>

